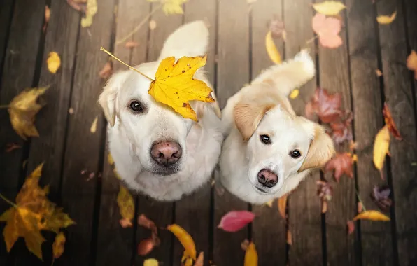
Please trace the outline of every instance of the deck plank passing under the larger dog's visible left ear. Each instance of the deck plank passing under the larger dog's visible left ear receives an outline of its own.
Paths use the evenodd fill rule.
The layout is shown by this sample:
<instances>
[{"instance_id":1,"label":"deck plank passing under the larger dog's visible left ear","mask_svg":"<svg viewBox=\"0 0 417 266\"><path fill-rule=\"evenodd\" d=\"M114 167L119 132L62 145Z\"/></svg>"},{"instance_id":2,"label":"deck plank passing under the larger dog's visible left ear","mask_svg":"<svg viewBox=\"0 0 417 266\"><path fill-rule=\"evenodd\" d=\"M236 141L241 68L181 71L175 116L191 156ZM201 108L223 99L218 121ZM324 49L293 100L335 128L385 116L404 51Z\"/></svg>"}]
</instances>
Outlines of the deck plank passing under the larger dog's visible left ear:
<instances>
[{"instance_id":1,"label":"deck plank passing under the larger dog's visible left ear","mask_svg":"<svg viewBox=\"0 0 417 266\"><path fill-rule=\"evenodd\" d=\"M114 53L124 62L144 62L147 50L148 27L136 31L128 41L136 41L139 46L133 49L125 47L125 43L118 43L118 40L129 34L136 25L149 13L150 3L146 1L119 1L116 18L116 34ZM135 55L132 59L132 54ZM126 66L113 62L113 71L127 70ZM113 167L107 162L104 163L104 171L101 186L101 206L99 216L99 234L97 240L97 265L130 265L132 258L136 255L136 226L133 228L122 228L119 220L121 218L117 197L119 192L119 181L113 173ZM132 193L137 199L137 196Z\"/></svg>"}]
</instances>

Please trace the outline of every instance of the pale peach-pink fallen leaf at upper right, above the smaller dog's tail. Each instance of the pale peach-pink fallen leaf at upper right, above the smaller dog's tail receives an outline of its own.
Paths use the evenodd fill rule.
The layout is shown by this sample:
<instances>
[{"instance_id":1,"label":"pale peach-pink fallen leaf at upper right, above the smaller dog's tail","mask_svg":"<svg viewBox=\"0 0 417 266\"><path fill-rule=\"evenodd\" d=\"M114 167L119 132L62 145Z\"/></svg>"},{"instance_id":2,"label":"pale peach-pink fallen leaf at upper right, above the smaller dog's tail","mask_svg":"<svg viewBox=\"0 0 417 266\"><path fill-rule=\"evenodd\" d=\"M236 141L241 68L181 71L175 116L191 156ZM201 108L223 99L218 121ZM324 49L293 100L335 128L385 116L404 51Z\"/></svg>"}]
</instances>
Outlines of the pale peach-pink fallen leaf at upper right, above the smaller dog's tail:
<instances>
[{"instance_id":1,"label":"pale peach-pink fallen leaf at upper right, above the smaller dog's tail","mask_svg":"<svg viewBox=\"0 0 417 266\"><path fill-rule=\"evenodd\" d=\"M325 15L316 13L313 17L312 25L313 31L318 34L318 41L323 47L338 48L343 44L339 36L341 21L337 18L326 18Z\"/></svg>"}]
</instances>

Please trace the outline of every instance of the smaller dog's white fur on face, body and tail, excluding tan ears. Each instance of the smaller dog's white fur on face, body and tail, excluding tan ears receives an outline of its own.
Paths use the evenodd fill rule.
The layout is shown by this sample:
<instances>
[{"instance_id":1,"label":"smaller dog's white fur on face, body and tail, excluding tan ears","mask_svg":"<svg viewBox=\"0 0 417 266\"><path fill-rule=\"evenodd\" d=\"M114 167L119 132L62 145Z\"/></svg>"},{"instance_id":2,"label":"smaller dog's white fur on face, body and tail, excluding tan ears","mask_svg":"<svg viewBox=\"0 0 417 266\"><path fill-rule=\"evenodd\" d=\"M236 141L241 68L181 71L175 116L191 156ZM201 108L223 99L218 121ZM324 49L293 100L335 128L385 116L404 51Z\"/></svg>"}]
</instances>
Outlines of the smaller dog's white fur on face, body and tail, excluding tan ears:
<instances>
[{"instance_id":1,"label":"smaller dog's white fur on face, body and tail, excluding tan ears","mask_svg":"<svg viewBox=\"0 0 417 266\"><path fill-rule=\"evenodd\" d=\"M220 155L222 185L232 194L246 202L263 204L294 190L310 174L311 169L298 172L309 151L316 128L320 126L305 118L295 116L288 101L290 92L313 78L314 62L308 52L299 52L294 59L283 64L271 66L253 80L251 85L243 87L228 101L222 110L222 130L226 139ZM244 141L236 127L234 109L241 102L256 102L265 96L266 90L274 90L276 106L267 111L255 132ZM260 141L260 134L269 134L271 144ZM327 137L327 136L325 136ZM327 139L328 140L328 139ZM330 153L332 150L329 148ZM289 156L297 148L302 156ZM278 183L272 188L257 190L257 173L261 169L270 169L278 175Z\"/></svg>"}]
</instances>

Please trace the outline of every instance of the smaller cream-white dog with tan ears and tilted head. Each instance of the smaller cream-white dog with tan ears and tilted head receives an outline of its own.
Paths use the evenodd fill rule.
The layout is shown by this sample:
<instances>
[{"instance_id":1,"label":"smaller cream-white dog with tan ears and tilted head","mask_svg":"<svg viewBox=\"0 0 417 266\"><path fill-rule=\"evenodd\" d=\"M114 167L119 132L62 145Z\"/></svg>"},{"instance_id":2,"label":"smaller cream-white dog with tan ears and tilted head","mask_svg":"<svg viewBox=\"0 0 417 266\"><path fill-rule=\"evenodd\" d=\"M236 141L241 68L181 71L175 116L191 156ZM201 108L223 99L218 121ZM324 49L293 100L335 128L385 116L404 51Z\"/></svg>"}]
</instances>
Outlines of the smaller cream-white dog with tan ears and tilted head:
<instances>
[{"instance_id":1,"label":"smaller cream-white dog with tan ears and tilted head","mask_svg":"<svg viewBox=\"0 0 417 266\"><path fill-rule=\"evenodd\" d=\"M227 101L221 181L241 200L263 204L290 193L334 154L324 128L296 116L287 98L314 74L313 60L302 51L271 66Z\"/></svg>"}]
</instances>

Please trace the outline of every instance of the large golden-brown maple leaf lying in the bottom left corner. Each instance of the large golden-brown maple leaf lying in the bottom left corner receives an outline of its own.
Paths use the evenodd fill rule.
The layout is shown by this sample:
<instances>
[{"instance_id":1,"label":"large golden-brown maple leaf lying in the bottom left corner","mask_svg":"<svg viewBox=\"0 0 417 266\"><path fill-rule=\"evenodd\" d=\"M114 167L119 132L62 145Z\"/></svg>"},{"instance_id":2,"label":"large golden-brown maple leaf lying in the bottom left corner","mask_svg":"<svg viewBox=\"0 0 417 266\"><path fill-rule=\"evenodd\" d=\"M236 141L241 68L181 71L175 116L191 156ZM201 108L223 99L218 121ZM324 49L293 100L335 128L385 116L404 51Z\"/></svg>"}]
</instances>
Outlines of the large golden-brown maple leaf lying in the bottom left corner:
<instances>
[{"instance_id":1,"label":"large golden-brown maple leaf lying in the bottom left corner","mask_svg":"<svg viewBox=\"0 0 417 266\"><path fill-rule=\"evenodd\" d=\"M57 232L59 228L66 228L74 222L62 209L55 208L55 204L48 200L48 186L41 188L38 185L41 177L42 165L36 167L24 181L22 189L17 194L16 204L4 200L13 205L0 216L0 221L6 222L3 230L6 249L10 252L19 237L23 237L29 251L42 259L41 245L45 239L41 230Z\"/></svg>"}]
</instances>

